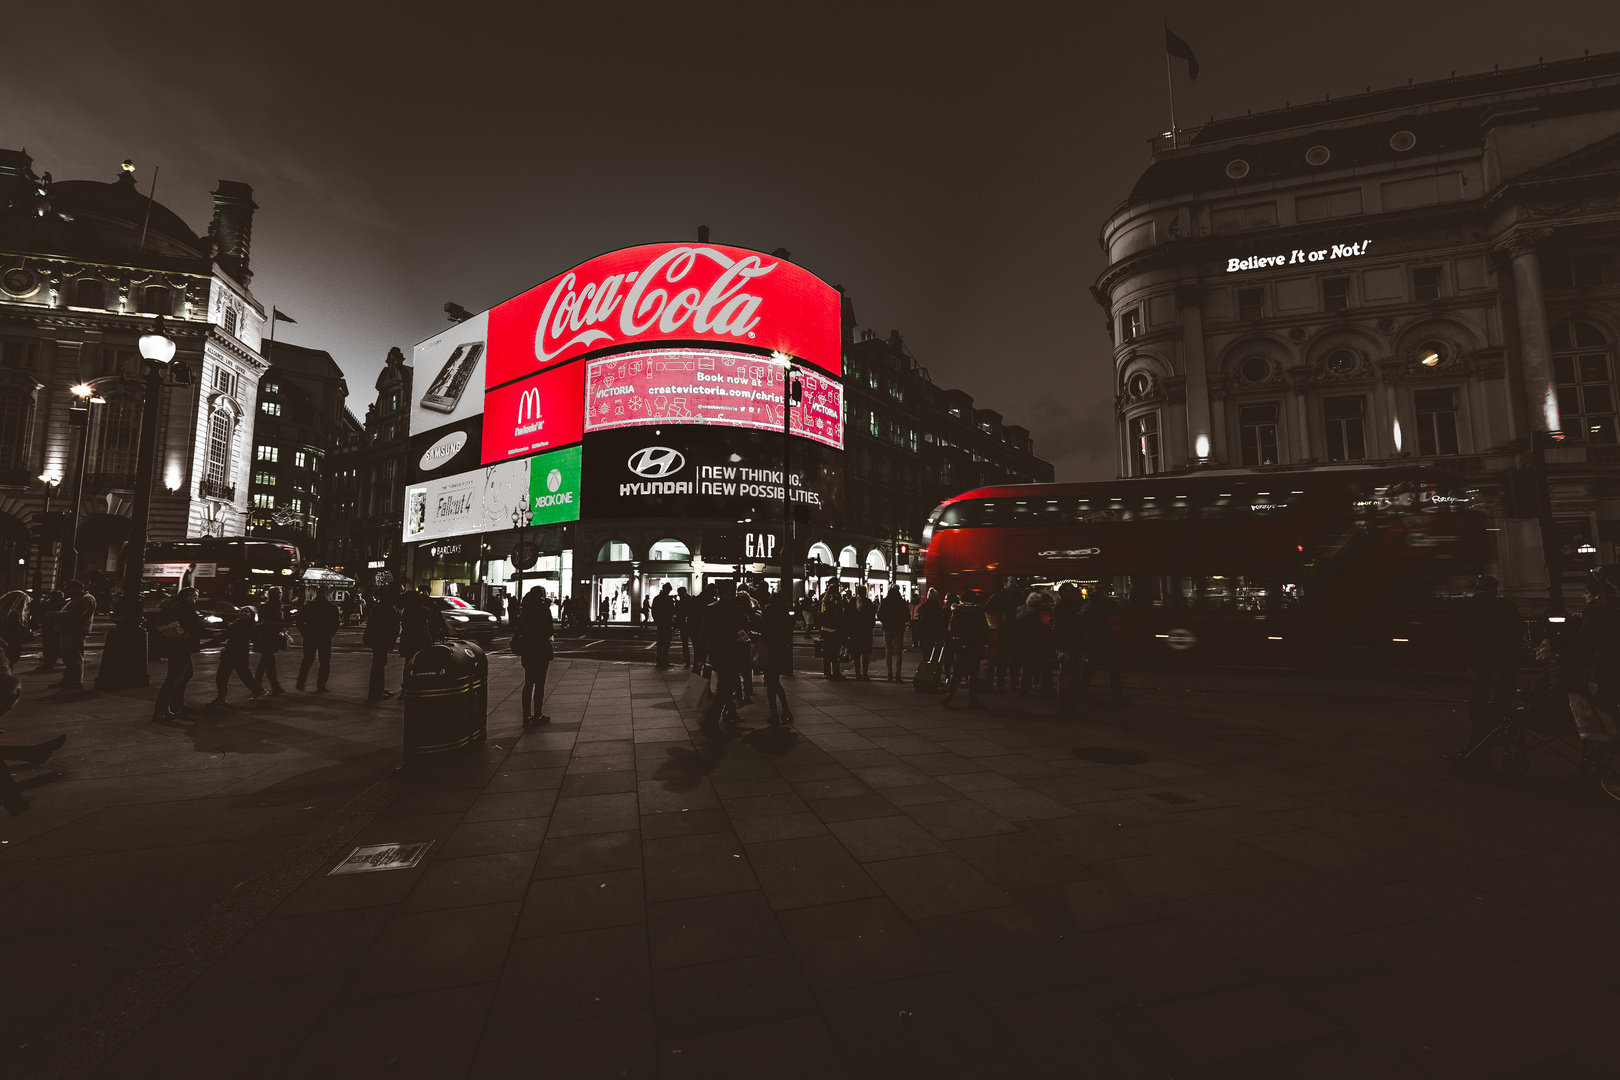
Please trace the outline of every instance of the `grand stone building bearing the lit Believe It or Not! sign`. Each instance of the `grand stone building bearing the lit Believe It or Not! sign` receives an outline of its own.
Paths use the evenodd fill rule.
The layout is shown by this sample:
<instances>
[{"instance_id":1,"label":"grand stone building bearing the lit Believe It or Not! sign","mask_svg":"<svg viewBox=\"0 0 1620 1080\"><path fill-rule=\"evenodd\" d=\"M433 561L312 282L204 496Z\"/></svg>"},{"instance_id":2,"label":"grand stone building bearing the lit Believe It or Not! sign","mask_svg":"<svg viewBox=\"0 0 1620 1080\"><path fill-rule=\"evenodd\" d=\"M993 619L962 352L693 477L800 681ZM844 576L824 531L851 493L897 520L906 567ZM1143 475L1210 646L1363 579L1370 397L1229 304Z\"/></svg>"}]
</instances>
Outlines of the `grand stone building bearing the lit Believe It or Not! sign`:
<instances>
[{"instance_id":1,"label":"grand stone building bearing the lit Believe It or Not! sign","mask_svg":"<svg viewBox=\"0 0 1620 1080\"><path fill-rule=\"evenodd\" d=\"M1615 562L1620 53L1212 120L1106 220L1121 476L1439 465L1497 507L1510 594Z\"/></svg>"}]
</instances>

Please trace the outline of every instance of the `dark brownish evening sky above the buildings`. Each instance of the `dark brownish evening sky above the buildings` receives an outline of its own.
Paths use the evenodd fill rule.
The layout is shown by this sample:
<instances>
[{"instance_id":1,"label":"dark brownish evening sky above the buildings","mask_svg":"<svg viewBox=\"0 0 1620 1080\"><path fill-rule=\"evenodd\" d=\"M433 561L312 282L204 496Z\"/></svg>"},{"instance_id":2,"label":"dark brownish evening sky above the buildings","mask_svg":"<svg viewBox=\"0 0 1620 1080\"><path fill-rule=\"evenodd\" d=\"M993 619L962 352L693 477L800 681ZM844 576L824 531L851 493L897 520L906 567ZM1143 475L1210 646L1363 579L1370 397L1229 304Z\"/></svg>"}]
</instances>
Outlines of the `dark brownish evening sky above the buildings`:
<instances>
[{"instance_id":1,"label":"dark brownish evening sky above the buildings","mask_svg":"<svg viewBox=\"0 0 1620 1080\"><path fill-rule=\"evenodd\" d=\"M593 8L583 11L583 8ZM1534 13L1534 16L1531 16ZM356 415L390 345L599 251L782 246L943 385L1113 476L1106 214L1168 126L1620 49L1620 5L178 5L8 11L0 146L199 232L254 188L253 290Z\"/></svg>"}]
</instances>

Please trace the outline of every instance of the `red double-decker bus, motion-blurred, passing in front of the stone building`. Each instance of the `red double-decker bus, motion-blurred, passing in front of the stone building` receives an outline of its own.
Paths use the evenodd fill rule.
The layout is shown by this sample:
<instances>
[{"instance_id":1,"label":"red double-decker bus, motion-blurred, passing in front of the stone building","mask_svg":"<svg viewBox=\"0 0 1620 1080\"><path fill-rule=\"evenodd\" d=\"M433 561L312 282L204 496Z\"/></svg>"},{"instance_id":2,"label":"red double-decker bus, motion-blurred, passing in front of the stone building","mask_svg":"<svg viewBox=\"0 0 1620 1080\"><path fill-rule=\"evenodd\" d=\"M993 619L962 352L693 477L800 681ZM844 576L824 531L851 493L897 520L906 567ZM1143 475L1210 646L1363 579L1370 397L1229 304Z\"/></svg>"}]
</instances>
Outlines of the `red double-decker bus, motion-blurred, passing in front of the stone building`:
<instances>
[{"instance_id":1,"label":"red double-decker bus, motion-blurred, passing in front of the stone building","mask_svg":"<svg viewBox=\"0 0 1620 1080\"><path fill-rule=\"evenodd\" d=\"M1422 468L982 487L930 515L923 576L1106 585L1128 661L1450 669L1452 606L1492 554L1477 504Z\"/></svg>"}]
</instances>

